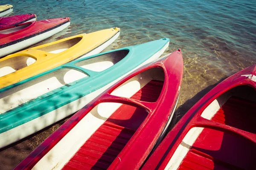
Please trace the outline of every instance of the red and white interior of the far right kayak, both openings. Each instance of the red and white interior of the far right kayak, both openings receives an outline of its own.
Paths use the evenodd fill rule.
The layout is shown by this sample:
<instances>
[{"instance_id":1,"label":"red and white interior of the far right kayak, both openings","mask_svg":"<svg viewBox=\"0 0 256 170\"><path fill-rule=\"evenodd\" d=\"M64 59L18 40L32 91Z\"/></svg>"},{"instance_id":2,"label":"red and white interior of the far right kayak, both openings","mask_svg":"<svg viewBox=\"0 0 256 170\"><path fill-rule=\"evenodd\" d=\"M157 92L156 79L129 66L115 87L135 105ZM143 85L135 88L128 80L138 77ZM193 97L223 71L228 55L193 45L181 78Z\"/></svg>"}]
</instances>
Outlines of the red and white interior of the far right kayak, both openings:
<instances>
[{"instance_id":1,"label":"red and white interior of the far right kayak, both openings","mask_svg":"<svg viewBox=\"0 0 256 170\"><path fill-rule=\"evenodd\" d=\"M256 134L255 96L254 88L247 85L237 86L215 99L201 116ZM168 167L253 169L255 153L255 143L245 136L214 127L192 127L175 150Z\"/></svg>"}]
</instances>

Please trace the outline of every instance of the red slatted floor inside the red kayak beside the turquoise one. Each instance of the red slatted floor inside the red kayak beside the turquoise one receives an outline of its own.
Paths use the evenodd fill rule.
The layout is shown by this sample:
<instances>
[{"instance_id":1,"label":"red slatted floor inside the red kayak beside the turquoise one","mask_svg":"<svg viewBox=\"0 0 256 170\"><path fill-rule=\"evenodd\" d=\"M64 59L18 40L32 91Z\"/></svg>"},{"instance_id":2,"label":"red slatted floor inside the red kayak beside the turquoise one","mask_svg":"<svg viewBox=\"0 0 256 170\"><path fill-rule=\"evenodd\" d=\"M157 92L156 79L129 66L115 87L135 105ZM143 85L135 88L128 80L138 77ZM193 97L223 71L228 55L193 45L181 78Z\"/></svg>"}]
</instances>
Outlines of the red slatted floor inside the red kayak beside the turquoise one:
<instances>
[{"instance_id":1,"label":"red slatted floor inside the red kayak beside the turquoise one","mask_svg":"<svg viewBox=\"0 0 256 170\"><path fill-rule=\"evenodd\" d=\"M162 81L151 80L137 91L131 99L155 102L162 88ZM80 147L63 169L107 169L140 127L146 116L148 116L148 112L144 109L122 105Z\"/></svg>"}]
</instances>

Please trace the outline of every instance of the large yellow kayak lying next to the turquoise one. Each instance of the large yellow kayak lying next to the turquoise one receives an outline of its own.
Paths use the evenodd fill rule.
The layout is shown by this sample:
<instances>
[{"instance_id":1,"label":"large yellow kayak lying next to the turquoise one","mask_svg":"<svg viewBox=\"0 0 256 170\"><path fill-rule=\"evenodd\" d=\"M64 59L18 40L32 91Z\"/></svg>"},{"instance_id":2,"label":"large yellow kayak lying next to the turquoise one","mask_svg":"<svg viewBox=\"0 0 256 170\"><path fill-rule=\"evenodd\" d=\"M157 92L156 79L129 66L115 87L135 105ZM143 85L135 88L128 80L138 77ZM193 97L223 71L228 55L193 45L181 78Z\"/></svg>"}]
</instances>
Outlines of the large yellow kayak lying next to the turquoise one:
<instances>
[{"instance_id":1,"label":"large yellow kayak lying next to the turquoise one","mask_svg":"<svg viewBox=\"0 0 256 170\"><path fill-rule=\"evenodd\" d=\"M0 59L0 90L74 59L98 54L120 34L110 28L29 48Z\"/></svg>"}]
</instances>

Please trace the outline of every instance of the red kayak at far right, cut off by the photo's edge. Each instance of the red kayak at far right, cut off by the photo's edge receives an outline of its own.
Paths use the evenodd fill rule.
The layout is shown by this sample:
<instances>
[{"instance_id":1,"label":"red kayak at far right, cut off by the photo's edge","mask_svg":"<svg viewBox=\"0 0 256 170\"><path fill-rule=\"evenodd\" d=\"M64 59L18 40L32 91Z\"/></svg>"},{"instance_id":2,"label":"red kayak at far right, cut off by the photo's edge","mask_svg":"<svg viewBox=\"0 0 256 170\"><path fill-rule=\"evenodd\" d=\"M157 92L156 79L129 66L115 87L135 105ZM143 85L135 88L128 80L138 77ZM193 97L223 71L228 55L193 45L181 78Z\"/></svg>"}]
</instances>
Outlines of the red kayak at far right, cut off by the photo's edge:
<instances>
[{"instance_id":1,"label":"red kayak at far right, cut off by the photo's edge","mask_svg":"<svg viewBox=\"0 0 256 170\"><path fill-rule=\"evenodd\" d=\"M142 170L255 170L256 64L225 79L168 133Z\"/></svg>"}]
</instances>

